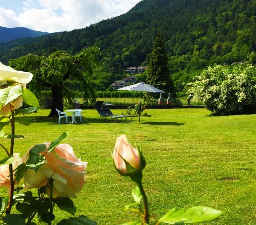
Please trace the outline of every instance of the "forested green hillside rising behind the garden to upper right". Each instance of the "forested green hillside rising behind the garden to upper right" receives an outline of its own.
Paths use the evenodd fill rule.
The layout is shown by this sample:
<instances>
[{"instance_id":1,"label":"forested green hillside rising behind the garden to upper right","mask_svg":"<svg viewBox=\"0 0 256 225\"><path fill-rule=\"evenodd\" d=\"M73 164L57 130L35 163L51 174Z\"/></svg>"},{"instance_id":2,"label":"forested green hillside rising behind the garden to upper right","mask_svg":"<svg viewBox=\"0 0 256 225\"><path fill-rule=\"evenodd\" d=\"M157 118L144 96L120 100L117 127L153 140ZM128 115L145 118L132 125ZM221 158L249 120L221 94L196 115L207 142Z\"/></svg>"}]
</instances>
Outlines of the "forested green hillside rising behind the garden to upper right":
<instances>
[{"instance_id":1,"label":"forested green hillside rising behind the garden to upper right","mask_svg":"<svg viewBox=\"0 0 256 225\"><path fill-rule=\"evenodd\" d=\"M84 29L22 39L0 45L0 61L52 48L72 53L95 45L102 51L95 69L97 89L123 69L148 63L157 33L162 33L177 91L194 71L213 64L255 60L255 0L144 0L124 15Z\"/></svg>"}]
</instances>

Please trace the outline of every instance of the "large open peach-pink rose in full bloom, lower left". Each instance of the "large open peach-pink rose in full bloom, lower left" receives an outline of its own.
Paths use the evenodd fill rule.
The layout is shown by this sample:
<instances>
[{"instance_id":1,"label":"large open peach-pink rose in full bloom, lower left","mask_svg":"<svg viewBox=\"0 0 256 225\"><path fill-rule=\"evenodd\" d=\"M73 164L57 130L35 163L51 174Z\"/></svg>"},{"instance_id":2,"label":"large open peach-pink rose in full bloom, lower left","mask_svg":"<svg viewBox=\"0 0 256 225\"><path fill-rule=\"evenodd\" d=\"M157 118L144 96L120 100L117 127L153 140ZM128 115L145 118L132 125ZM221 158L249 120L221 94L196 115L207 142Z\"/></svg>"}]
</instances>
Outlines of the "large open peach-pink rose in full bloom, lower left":
<instances>
[{"instance_id":1,"label":"large open peach-pink rose in full bloom, lower left","mask_svg":"<svg viewBox=\"0 0 256 225\"><path fill-rule=\"evenodd\" d=\"M44 143L48 147L50 143ZM45 163L37 172L28 170L24 173L25 188L41 188L53 179L53 197L76 197L84 183L84 171L87 162L77 159L73 148L68 144L58 145L52 152L45 154ZM29 158L29 153L23 156L23 162ZM46 191L49 195L49 189Z\"/></svg>"}]
</instances>

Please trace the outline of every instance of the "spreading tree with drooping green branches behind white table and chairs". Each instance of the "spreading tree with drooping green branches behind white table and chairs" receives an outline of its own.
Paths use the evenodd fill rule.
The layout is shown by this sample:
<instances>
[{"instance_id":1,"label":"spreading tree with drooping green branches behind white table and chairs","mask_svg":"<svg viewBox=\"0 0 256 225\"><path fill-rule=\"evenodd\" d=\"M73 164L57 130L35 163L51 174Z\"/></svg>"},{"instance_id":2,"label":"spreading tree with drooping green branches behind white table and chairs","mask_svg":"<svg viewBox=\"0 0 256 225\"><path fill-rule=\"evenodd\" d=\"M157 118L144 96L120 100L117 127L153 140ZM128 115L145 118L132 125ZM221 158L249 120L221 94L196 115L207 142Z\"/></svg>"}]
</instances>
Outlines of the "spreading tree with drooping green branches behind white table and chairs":
<instances>
[{"instance_id":1,"label":"spreading tree with drooping green branches behind white table and chairs","mask_svg":"<svg viewBox=\"0 0 256 225\"><path fill-rule=\"evenodd\" d=\"M11 59L9 65L17 70L33 74L30 90L39 94L42 90L52 91L52 107L49 116L57 116L56 109L63 111L63 97L72 101L72 91L67 87L68 80L82 84L84 101L95 101L91 84L92 67L98 63L100 49L88 47L76 55L67 51L54 51L46 56L28 54Z\"/></svg>"}]
</instances>

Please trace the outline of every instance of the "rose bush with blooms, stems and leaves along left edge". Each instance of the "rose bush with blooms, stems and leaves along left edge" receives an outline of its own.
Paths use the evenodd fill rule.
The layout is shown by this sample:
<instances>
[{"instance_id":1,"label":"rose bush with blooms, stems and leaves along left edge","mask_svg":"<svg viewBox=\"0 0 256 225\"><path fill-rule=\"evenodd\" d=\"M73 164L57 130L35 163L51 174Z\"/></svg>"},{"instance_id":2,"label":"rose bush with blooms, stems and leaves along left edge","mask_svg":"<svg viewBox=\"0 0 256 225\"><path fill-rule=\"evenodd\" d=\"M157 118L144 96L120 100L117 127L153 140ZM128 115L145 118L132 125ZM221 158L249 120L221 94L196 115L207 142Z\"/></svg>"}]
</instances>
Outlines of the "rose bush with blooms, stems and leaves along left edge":
<instances>
[{"instance_id":1,"label":"rose bush with blooms, stems and leaves along left edge","mask_svg":"<svg viewBox=\"0 0 256 225\"><path fill-rule=\"evenodd\" d=\"M6 187L9 194L8 197L0 196L0 223L36 224L32 220L37 217L40 222L51 225L55 220L53 209L57 206L72 215L58 222L59 225L77 221L96 225L86 216L74 217L76 207L70 197L76 197L83 186L87 162L77 159L70 145L59 144L71 131L64 132L51 143L35 145L23 156L22 163L18 154L13 153L15 139L24 137L15 134L15 122L23 125L32 122L30 118L15 116L29 114L40 107L36 96L26 88L31 79L31 73L16 71L0 63L0 115L4 115L0 116L0 132L2 138L10 139L10 148L0 143L7 155L0 160L0 187ZM22 102L30 107L18 109ZM25 191L18 186L22 179ZM37 188L37 193L26 190L29 188ZM16 207L14 214L13 207Z\"/></svg>"}]
</instances>

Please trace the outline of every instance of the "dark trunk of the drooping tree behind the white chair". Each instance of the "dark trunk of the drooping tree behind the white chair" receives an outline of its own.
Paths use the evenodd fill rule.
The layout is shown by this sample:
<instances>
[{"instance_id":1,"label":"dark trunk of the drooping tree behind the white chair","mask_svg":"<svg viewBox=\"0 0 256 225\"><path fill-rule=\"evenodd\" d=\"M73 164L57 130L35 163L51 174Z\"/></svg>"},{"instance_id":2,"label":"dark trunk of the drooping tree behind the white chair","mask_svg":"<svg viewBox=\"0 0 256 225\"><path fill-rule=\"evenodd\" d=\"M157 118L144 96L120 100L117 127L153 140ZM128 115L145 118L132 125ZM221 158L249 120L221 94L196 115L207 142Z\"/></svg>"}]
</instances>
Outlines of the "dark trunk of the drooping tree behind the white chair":
<instances>
[{"instance_id":1,"label":"dark trunk of the drooping tree behind the white chair","mask_svg":"<svg viewBox=\"0 0 256 225\"><path fill-rule=\"evenodd\" d=\"M63 93L62 84L55 84L52 88L52 108L49 116L58 116L56 109L63 112Z\"/></svg>"}]
</instances>

